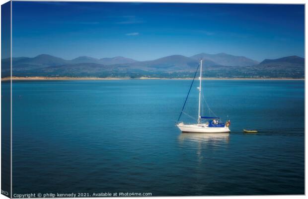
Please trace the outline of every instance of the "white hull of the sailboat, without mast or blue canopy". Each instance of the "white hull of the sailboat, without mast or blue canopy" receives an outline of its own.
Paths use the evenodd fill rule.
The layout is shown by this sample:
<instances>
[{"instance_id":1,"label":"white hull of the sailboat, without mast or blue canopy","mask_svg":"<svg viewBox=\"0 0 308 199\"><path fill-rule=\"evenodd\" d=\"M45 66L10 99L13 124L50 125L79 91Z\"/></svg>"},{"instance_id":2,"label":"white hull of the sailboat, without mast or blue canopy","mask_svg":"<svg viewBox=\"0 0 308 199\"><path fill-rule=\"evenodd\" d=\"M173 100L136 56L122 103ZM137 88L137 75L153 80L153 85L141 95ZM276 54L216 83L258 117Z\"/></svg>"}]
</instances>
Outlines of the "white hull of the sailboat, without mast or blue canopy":
<instances>
[{"instance_id":1,"label":"white hull of the sailboat, without mast or blue canopy","mask_svg":"<svg viewBox=\"0 0 308 199\"><path fill-rule=\"evenodd\" d=\"M225 127L209 127L207 124L184 124L179 123L176 125L182 132L192 133L229 133L230 129Z\"/></svg>"}]
</instances>

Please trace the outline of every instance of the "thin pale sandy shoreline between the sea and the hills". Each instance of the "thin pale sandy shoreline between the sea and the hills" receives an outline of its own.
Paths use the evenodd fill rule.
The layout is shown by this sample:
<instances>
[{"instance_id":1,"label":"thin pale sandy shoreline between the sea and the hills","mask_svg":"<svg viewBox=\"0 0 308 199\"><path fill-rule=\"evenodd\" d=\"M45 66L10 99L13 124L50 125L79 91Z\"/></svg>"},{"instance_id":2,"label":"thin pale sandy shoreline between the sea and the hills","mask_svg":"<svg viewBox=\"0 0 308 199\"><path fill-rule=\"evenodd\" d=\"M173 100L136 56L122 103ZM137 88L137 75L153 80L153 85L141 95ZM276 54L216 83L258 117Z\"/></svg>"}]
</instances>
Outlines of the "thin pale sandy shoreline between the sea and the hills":
<instances>
[{"instance_id":1,"label":"thin pale sandy shoreline between the sea and the hills","mask_svg":"<svg viewBox=\"0 0 308 199\"><path fill-rule=\"evenodd\" d=\"M95 77L5 77L1 78L2 81L33 81L33 80L192 80L192 78L95 78ZM305 79L292 79L292 78L202 78L202 80L305 80Z\"/></svg>"}]
</instances>

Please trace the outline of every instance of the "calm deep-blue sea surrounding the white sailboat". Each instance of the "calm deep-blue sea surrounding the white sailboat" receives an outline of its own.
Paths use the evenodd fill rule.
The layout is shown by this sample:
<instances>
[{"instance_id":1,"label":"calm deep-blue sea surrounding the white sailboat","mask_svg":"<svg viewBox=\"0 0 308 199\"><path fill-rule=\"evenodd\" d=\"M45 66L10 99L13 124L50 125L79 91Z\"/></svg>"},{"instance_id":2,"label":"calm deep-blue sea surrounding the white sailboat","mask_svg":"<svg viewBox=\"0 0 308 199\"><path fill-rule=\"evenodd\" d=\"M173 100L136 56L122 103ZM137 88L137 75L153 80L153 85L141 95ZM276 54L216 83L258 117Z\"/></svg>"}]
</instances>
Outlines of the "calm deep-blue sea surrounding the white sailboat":
<instances>
[{"instance_id":1,"label":"calm deep-blue sea surrounding the white sailboat","mask_svg":"<svg viewBox=\"0 0 308 199\"><path fill-rule=\"evenodd\" d=\"M231 120L219 135L175 126L190 83L14 81L13 194L305 194L304 81L204 80L203 114Z\"/></svg>"}]
</instances>

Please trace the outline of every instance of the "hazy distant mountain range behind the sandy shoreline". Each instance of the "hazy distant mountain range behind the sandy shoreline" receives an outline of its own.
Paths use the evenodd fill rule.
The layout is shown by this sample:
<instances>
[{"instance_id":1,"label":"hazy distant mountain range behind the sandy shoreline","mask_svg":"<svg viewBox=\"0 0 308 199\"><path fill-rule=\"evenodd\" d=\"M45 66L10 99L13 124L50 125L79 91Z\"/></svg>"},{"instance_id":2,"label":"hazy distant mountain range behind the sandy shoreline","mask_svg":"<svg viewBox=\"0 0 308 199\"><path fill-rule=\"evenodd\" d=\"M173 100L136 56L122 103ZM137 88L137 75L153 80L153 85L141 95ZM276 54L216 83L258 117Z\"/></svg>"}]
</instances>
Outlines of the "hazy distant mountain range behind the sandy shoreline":
<instances>
[{"instance_id":1,"label":"hazy distant mountain range behind the sandy shoreline","mask_svg":"<svg viewBox=\"0 0 308 199\"><path fill-rule=\"evenodd\" d=\"M304 78L305 59L298 56L265 59L261 63L226 53L200 53L191 57L171 55L150 61L125 57L77 57L65 60L51 55L33 58L12 58L13 76L47 77L156 77L190 78L200 59L204 63L204 77L213 78ZM2 59L2 77L9 76L10 59Z\"/></svg>"}]
</instances>

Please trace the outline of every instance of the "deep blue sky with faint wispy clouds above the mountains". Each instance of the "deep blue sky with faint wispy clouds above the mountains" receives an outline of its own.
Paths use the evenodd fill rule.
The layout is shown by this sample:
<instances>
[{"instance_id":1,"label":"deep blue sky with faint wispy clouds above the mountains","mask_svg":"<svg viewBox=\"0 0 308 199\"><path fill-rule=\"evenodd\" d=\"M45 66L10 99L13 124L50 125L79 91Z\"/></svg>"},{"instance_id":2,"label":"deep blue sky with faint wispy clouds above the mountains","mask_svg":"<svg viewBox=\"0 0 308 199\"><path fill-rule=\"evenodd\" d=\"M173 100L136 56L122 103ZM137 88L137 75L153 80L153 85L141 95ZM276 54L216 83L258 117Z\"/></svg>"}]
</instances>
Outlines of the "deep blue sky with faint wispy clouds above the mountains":
<instances>
[{"instance_id":1,"label":"deep blue sky with faint wispy clouds above the mountains","mask_svg":"<svg viewBox=\"0 0 308 199\"><path fill-rule=\"evenodd\" d=\"M13 57L304 57L299 4L13 1L12 13Z\"/></svg>"}]
</instances>

